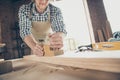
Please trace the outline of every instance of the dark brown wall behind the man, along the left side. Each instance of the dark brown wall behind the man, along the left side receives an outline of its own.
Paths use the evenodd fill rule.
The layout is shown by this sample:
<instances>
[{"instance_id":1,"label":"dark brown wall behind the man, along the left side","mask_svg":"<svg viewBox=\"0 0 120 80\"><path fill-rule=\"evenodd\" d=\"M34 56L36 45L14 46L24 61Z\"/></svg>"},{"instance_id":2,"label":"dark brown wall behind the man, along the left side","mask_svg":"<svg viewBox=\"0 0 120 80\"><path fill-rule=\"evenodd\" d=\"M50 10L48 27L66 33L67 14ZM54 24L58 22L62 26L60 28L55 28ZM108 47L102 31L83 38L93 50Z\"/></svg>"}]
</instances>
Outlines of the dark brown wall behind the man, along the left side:
<instances>
[{"instance_id":1,"label":"dark brown wall behind the man, along the left side","mask_svg":"<svg viewBox=\"0 0 120 80\"><path fill-rule=\"evenodd\" d=\"M0 42L6 44L5 59L13 59L20 57L16 39L16 22L18 22L18 9L19 6L29 0L18 0L13 2L12 0L0 0ZM29 53L29 52L28 52Z\"/></svg>"}]
</instances>

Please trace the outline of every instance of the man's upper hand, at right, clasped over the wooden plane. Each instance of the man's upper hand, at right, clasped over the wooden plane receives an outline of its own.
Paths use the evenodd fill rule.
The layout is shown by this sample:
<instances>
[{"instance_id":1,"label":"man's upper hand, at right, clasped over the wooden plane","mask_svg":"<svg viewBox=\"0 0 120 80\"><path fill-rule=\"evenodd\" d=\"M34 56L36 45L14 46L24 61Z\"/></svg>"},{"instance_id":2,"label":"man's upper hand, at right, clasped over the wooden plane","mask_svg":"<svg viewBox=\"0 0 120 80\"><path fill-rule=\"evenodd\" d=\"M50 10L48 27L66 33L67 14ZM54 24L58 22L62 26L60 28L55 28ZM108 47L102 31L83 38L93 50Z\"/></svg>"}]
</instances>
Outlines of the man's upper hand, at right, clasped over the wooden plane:
<instances>
[{"instance_id":1,"label":"man's upper hand, at right, clasped over the wooden plane","mask_svg":"<svg viewBox=\"0 0 120 80\"><path fill-rule=\"evenodd\" d=\"M50 47L53 49L60 49L63 47L63 33L56 32L53 34L49 34L50 38Z\"/></svg>"}]
</instances>

